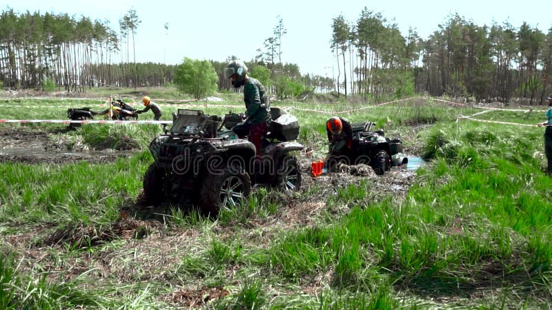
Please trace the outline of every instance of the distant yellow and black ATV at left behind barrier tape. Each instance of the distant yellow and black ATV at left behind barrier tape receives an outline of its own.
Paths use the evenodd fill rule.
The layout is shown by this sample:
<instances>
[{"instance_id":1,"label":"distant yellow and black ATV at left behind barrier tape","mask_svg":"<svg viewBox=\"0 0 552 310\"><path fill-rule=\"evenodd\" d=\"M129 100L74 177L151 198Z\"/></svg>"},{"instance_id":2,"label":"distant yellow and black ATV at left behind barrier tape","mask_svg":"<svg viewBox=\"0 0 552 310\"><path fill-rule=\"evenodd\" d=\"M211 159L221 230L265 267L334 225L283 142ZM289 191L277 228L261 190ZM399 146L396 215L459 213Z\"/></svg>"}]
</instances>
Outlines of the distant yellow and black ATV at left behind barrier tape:
<instances>
[{"instance_id":1,"label":"distant yellow and black ATV at left behind barrier tape","mask_svg":"<svg viewBox=\"0 0 552 310\"><path fill-rule=\"evenodd\" d=\"M112 100L111 106L103 111L90 110L90 107L81 107L79 109L70 108L67 110L67 117L72 121L86 121L94 116L101 115L104 118L110 118L119 121L128 121L130 118L138 119L137 110L124 103L121 99ZM69 127L78 127L79 123L70 123Z\"/></svg>"}]
</instances>

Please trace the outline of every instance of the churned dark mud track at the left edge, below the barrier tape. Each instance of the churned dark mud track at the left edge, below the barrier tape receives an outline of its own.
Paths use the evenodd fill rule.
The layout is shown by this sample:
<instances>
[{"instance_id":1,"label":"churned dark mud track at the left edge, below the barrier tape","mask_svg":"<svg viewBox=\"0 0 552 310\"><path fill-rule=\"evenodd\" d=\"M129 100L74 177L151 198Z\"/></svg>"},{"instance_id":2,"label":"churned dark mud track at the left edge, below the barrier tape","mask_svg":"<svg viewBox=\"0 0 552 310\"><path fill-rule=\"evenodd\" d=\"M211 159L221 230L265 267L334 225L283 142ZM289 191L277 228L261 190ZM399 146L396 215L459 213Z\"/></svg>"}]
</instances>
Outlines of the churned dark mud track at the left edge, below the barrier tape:
<instances>
[{"instance_id":1,"label":"churned dark mud track at the left edge, below the barrier tape","mask_svg":"<svg viewBox=\"0 0 552 310\"><path fill-rule=\"evenodd\" d=\"M89 150L78 136L71 138L55 133L36 127L1 127L0 163L106 163L132 154L131 151L113 149ZM63 133L63 130L57 133Z\"/></svg>"}]
</instances>

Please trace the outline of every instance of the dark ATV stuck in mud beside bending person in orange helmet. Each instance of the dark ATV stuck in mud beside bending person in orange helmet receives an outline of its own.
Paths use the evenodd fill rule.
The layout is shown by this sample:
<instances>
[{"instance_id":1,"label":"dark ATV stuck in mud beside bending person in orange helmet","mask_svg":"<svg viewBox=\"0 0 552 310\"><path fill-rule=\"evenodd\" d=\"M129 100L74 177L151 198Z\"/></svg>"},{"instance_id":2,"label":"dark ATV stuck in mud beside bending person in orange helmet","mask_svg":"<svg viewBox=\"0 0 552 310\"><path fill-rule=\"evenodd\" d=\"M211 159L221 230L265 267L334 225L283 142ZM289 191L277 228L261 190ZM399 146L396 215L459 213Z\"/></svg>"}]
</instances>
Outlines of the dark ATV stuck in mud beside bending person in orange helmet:
<instances>
[{"instance_id":1,"label":"dark ATV stuck in mud beside bending person in orange helmet","mask_svg":"<svg viewBox=\"0 0 552 310\"><path fill-rule=\"evenodd\" d=\"M391 170L392 166L408 163L408 158L402 155L400 138L390 139L384 136L383 130L373 131L374 125L371 122L352 123L351 148L344 147L337 152L331 150L324 161L324 167L331 171L338 163L366 164L374 169L375 174L382 175Z\"/></svg>"}]
</instances>

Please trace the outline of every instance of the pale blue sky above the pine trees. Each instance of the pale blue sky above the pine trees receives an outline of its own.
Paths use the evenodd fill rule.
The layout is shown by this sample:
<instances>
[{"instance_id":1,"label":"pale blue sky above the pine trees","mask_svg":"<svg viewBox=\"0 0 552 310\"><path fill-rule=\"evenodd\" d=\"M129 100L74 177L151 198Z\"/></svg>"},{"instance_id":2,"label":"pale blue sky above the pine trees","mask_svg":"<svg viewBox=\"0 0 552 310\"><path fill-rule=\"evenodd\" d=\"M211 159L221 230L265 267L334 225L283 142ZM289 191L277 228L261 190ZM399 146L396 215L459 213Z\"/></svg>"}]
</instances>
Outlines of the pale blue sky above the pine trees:
<instances>
[{"instance_id":1,"label":"pale blue sky above the pine trees","mask_svg":"<svg viewBox=\"0 0 552 310\"><path fill-rule=\"evenodd\" d=\"M134 8L141 24L137 29L137 61L180 63L184 57L224 61L235 55L249 61L264 39L273 36L281 16L287 34L282 38L282 61L297 63L302 74L331 76L335 65L330 50L332 20L342 14L355 21L364 7L394 19L403 35L415 28L426 39L449 14L457 12L477 25L523 21L542 32L552 27L552 1L170 1L170 0L0 0L1 10L68 13L110 21L119 30L119 19ZM525 6L525 3L530 3ZM168 32L164 24L168 23ZM132 56L131 56L132 59ZM337 67L336 67L337 68Z\"/></svg>"}]
</instances>

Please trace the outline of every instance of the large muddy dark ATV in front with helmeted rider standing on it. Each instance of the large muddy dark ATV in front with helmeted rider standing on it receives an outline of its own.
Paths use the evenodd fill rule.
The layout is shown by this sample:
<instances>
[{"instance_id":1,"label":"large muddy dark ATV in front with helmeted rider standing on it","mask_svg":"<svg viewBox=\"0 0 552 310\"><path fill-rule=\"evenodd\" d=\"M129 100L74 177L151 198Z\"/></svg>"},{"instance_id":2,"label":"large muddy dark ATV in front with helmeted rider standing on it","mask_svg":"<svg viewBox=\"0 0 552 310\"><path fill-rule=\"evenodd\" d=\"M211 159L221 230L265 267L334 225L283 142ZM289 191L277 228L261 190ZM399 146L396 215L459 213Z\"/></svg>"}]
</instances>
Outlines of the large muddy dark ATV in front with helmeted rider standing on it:
<instances>
[{"instance_id":1,"label":"large muddy dark ATV in front with helmeted rider standing on it","mask_svg":"<svg viewBox=\"0 0 552 310\"><path fill-rule=\"evenodd\" d=\"M261 165L255 164L255 145L245 138L242 114L221 118L201 110L179 109L170 130L149 146L154 162L144 175L146 203L199 205L217 214L221 207L244 202L252 185L297 191L301 173L290 152L303 149L293 142L299 134L295 116L277 107L263 139Z\"/></svg>"}]
</instances>

